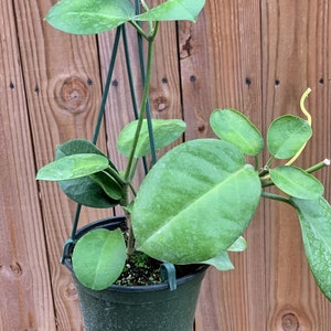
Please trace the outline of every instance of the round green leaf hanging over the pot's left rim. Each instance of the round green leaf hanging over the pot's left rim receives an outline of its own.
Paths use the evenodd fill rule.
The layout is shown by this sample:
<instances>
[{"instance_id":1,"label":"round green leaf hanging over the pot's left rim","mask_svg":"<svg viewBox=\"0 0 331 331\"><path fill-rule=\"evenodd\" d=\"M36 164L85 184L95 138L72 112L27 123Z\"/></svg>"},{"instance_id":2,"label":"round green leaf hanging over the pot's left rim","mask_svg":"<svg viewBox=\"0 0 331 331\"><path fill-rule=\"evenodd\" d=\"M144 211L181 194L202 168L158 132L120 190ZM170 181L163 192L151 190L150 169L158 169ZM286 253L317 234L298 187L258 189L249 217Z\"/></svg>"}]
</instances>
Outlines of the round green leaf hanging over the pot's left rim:
<instances>
[{"instance_id":1,"label":"round green leaf hanging over the pot's left rim","mask_svg":"<svg viewBox=\"0 0 331 331\"><path fill-rule=\"evenodd\" d=\"M86 287L102 290L121 274L126 261L126 244L120 229L94 229L75 245L73 268Z\"/></svg>"}]
</instances>

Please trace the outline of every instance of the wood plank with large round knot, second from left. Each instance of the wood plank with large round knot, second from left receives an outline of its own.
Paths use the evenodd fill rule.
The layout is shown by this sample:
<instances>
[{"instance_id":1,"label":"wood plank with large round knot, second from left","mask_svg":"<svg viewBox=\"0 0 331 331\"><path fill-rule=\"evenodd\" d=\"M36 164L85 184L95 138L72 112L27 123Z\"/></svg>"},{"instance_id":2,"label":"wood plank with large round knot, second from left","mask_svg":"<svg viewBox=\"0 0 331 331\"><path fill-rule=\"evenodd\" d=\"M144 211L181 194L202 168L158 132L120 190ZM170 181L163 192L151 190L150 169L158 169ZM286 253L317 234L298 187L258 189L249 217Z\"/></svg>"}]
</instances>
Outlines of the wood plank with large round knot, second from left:
<instances>
[{"instance_id":1,"label":"wood plank with large round knot, second from left","mask_svg":"<svg viewBox=\"0 0 331 331\"><path fill-rule=\"evenodd\" d=\"M53 160L57 143L92 139L100 97L96 39L55 31L43 18L53 1L14 1L36 167ZM100 142L105 146L105 140ZM75 203L56 184L40 183L58 330L81 330L72 278L58 263L71 234ZM81 224L105 216L84 209Z\"/></svg>"}]
</instances>

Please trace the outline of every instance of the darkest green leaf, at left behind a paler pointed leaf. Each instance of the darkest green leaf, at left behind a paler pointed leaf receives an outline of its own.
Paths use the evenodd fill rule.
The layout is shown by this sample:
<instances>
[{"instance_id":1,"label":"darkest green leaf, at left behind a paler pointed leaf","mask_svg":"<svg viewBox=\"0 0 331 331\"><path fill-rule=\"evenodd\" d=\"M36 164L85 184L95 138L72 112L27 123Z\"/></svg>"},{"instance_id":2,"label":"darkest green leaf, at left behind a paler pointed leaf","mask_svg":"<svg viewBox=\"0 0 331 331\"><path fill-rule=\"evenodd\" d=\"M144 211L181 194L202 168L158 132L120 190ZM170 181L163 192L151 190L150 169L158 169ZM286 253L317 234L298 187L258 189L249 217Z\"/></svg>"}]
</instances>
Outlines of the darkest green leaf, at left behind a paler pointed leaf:
<instances>
[{"instance_id":1,"label":"darkest green leaf, at left behind a paler pointed leaf","mask_svg":"<svg viewBox=\"0 0 331 331\"><path fill-rule=\"evenodd\" d=\"M76 153L95 153L106 158L106 156L90 141L85 139L73 139L56 148L55 159L57 160L65 156ZM109 166L117 171L110 161ZM95 173L93 177L95 180L92 180L90 177L84 177L70 181L61 181L58 182L58 185L70 199L83 205L97 209L108 209L117 205L118 200L111 199L109 192L106 194L104 189L97 184L98 178L103 177L102 173Z\"/></svg>"}]
</instances>

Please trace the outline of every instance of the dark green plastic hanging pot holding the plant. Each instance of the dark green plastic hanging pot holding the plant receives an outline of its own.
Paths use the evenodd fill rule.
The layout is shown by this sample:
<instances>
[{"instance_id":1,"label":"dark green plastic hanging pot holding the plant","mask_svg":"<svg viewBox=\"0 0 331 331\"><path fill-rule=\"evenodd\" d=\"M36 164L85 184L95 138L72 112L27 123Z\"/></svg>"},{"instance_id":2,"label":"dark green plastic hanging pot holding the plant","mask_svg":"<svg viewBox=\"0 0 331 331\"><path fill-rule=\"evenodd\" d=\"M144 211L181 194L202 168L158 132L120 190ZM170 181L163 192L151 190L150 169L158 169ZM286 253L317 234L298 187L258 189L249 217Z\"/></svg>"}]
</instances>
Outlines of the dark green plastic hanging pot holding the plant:
<instances>
[{"instance_id":1,"label":"dark green plastic hanging pot holding the plant","mask_svg":"<svg viewBox=\"0 0 331 331\"><path fill-rule=\"evenodd\" d=\"M124 217L102 220L77 232L77 238L96 227L118 227ZM70 259L65 265L72 270ZM110 286L95 291L76 282L86 331L191 331L205 266L177 279L177 289L168 284L152 286ZM73 271L73 270L72 270Z\"/></svg>"}]
</instances>

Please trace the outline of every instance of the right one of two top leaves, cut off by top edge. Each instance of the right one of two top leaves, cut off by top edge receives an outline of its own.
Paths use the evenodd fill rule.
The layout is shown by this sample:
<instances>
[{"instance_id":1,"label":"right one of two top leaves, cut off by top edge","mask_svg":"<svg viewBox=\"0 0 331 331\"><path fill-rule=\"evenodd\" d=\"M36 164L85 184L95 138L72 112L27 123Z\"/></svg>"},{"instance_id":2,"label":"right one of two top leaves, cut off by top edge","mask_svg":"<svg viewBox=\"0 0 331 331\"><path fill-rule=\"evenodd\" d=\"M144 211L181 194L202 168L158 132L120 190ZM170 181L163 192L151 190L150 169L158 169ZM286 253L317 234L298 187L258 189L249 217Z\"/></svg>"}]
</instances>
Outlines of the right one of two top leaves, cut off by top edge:
<instances>
[{"instance_id":1,"label":"right one of two top leaves, cut off by top edge","mask_svg":"<svg viewBox=\"0 0 331 331\"><path fill-rule=\"evenodd\" d=\"M135 17L136 21L196 21L205 0L168 0Z\"/></svg>"}]
</instances>

